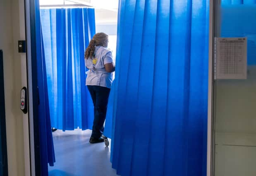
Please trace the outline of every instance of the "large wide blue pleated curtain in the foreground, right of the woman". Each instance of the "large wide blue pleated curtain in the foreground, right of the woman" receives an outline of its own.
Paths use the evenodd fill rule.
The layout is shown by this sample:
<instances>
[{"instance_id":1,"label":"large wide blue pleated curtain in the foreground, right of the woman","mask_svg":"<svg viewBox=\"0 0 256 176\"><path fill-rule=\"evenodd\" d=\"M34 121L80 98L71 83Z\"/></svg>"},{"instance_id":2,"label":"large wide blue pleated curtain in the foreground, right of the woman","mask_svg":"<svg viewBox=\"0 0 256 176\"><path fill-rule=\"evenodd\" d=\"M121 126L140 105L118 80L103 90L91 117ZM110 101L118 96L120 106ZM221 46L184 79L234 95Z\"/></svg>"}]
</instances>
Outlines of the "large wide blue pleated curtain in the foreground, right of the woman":
<instances>
[{"instance_id":1,"label":"large wide blue pleated curtain in the foreground, right of the woman","mask_svg":"<svg viewBox=\"0 0 256 176\"><path fill-rule=\"evenodd\" d=\"M209 0L119 6L112 167L122 176L206 176Z\"/></svg>"}]
</instances>

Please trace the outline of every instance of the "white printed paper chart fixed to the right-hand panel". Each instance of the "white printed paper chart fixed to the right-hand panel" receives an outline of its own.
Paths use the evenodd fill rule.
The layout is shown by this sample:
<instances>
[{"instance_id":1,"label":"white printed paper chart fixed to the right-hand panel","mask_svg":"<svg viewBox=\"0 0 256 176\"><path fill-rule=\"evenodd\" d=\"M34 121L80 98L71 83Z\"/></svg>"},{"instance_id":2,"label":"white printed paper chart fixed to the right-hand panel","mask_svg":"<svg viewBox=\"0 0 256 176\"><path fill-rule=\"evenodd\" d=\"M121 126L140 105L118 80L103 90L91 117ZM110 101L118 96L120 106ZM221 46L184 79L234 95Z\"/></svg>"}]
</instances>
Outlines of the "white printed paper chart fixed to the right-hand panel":
<instances>
[{"instance_id":1,"label":"white printed paper chart fixed to the right-hand panel","mask_svg":"<svg viewBox=\"0 0 256 176\"><path fill-rule=\"evenodd\" d=\"M215 38L214 78L246 79L247 38Z\"/></svg>"}]
</instances>

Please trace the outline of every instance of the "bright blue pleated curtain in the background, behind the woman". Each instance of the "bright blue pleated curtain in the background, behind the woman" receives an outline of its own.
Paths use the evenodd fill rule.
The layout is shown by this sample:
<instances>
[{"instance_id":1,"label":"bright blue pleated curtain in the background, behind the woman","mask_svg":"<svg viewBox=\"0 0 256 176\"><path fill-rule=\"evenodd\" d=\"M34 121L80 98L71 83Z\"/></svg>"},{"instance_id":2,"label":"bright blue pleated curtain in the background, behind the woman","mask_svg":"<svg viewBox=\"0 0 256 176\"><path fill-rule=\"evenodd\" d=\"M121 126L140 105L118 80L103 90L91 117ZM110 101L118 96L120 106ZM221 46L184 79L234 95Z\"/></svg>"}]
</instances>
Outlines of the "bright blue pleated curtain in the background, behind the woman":
<instances>
[{"instance_id":1,"label":"bright blue pleated curtain in the background, behind the woman","mask_svg":"<svg viewBox=\"0 0 256 176\"><path fill-rule=\"evenodd\" d=\"M95 34L94 9L41 9L40 14L52 127L91 129L84 52Z\"/></svg>"}]
</instances>

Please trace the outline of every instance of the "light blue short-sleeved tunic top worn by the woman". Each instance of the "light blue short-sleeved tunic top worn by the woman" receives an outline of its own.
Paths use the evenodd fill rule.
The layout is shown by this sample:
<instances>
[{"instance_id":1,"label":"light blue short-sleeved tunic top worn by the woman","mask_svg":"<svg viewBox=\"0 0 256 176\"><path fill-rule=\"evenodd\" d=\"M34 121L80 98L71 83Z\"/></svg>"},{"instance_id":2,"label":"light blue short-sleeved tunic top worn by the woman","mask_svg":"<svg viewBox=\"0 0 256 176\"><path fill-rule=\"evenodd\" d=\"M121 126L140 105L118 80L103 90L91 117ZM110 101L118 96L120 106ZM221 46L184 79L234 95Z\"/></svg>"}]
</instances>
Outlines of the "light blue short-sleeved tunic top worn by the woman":
<instances>
[{"instance_id":1,"label":"light blue short-sleeved tunic top worn by the woman","mask_svg":"<svg viewBox=\"0 0 256 176\"><path fill-rule=\"evenodd\" d=\"M113 73L108 73L105 69L106 63L112 63L112 53L102 46L95 48L95 57L85 59L85 65L89 69L86 74L86 85L101 86L111 88Z\"/></svg>"}]
</instances>

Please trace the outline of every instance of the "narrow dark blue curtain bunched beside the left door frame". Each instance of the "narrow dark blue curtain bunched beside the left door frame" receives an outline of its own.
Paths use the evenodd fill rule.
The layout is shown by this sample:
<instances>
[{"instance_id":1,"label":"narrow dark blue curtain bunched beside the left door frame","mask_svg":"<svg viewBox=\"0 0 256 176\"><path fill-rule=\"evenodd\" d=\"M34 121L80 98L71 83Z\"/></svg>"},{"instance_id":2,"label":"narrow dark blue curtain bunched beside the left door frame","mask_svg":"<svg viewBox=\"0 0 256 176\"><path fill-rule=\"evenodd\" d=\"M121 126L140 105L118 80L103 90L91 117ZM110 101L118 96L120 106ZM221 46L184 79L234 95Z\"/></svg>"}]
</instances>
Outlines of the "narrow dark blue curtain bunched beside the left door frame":
<instances>
[{"instance_id":1,"label":"narrow dark blue curtain bunched beside the left door frame","mask_svg":"<svg viewBox=\"0 0 256 176\"><path fill-rule=\"evenodd\" d=\"M37 84L38 84L38 119L39 119L39 140L40 140L40 163L41 175L48 176L48 163L53 166L55 154L53 147L53 136L50 122L50 109L48 99L48 88L46 82L46 67L41 21L39 13L39 2L35 1L35 29L36 33L36 62L37 62ZM33 26L31 26L33 29ZM35 102L36 103L36 102ZM37 117L37 115L35 115Z\"/></svg>"}]
</instances>

